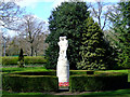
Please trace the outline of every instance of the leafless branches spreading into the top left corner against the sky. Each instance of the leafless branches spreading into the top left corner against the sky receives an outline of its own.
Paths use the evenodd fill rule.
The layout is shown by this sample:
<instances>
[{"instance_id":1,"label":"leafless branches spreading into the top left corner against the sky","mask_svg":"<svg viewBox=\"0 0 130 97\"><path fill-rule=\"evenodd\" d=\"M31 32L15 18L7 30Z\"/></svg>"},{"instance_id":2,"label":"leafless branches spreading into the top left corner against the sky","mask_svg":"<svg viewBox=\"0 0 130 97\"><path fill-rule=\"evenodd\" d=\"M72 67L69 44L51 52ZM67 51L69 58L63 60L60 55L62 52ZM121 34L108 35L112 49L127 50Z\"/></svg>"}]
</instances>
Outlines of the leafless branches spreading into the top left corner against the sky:
<instances>
[{"instance_id":1,"label":"leafless branches spreading into the top left corner against the sky","mask_svg":"<svg viewBox=\"0 0 130 97\"><path fill-rule=\"evenodd\" d=\"M16 29L16 22L20 19L24 9L21 9L13 0L0 1L0 27Z\"/></svg>"}]
</instances>

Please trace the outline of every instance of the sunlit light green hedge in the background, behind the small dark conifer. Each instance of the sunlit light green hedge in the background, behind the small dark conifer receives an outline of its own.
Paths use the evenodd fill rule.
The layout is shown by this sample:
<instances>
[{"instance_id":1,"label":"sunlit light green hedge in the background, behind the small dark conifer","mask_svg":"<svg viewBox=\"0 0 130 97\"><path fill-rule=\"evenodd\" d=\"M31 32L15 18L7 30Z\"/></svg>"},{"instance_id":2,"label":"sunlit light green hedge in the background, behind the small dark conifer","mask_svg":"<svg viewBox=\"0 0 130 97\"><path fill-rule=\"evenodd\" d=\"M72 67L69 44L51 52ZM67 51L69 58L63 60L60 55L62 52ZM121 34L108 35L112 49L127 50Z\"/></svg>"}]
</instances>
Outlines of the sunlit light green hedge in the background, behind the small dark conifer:
<instances>
[{"instance_id":1,"label":"sunlit light green hedge in the background, behind the small dark conifer","mask_svg":"<svg viewBox=\"0 0 130 97\"><path fill-rule=\"evenodd\" d=\"M5 56L2 57L2 65L17 65L18 57ZM43 56L25 56L24 57L25 65L39 65L46 64L47 59Z\"/></svg>"}]
</instances>

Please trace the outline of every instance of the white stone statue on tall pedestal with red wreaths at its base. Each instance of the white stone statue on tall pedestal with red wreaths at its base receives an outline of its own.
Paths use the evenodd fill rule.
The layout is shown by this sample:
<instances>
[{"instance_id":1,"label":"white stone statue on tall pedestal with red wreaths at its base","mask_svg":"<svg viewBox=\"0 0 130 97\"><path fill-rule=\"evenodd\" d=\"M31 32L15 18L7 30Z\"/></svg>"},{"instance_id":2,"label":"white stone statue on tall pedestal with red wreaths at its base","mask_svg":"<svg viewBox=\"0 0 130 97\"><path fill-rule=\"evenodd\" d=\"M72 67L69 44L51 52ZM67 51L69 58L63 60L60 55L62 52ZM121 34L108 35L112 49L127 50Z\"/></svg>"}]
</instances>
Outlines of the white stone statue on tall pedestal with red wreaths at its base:
<instances>
[{"instance_id":1,"label":"white stone statue on tall pedestal with red wreaths at its base","mask_svg":"<svg viewBox=\"0 0 130 97\"><path fill-rule=\"evenodd\" d=\"M58 60L57 60L57 71L56 75L58 78L58 84L68 85L69 83L69 63L67 60L66 51L68 47L68 41L66 37L60 37L60 53L58 53ZM60 85L61 86L61 85Z\"/></svg>"}]
</instances>

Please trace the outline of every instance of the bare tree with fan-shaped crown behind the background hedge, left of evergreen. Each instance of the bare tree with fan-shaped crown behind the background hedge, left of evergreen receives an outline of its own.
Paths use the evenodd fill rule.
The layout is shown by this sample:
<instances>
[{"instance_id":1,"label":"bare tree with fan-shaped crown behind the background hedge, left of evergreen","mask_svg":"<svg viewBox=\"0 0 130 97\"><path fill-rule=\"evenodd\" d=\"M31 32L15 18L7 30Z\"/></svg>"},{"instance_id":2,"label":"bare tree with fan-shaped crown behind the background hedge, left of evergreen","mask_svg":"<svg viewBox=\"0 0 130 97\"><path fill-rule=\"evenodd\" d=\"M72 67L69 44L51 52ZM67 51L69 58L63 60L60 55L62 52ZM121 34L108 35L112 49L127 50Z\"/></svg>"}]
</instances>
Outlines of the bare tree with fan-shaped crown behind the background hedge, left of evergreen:
<instances>
[{"instance_id":1,"label":"bare tree with fan-shaped crown behind the background hedge, left of evergreen","mask_svg":"<svg viewBox=\"0 0 130 97\"><path fill-rule=\"evenodd\" d=\"M34 56L34 52L36 52L36 47L40 44L41 41L40 36L43 36L46 31L46 23L38 19L34 15L24 15L22 24L20 24L18 34L21 38L24 38L27 43L27 46L30 48L30 56Z\"/></svg>"}]
</instances>

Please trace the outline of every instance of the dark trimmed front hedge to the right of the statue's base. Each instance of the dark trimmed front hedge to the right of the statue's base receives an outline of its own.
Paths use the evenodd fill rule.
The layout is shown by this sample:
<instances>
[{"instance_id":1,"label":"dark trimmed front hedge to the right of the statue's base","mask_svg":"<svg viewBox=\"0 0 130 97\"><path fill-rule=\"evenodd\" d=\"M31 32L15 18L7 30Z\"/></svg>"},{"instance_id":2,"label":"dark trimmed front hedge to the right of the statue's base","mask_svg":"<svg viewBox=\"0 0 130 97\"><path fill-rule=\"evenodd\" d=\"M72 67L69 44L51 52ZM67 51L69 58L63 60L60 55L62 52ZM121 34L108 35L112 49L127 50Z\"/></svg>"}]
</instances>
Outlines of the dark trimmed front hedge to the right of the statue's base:
<instances>
[{"instance_id":1,"label":"dark trimmed front hedge to the right of the statue's base","mask_svg":"<svg viewBox=\"0 0 130 97\"><path fill-rule=\"evenodd\" d=\"M72 75L69 78L69 91L84 92L118 89L126 87L127 83L127 73Z\"/></svg>"}]
</instances>

